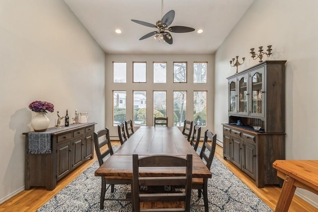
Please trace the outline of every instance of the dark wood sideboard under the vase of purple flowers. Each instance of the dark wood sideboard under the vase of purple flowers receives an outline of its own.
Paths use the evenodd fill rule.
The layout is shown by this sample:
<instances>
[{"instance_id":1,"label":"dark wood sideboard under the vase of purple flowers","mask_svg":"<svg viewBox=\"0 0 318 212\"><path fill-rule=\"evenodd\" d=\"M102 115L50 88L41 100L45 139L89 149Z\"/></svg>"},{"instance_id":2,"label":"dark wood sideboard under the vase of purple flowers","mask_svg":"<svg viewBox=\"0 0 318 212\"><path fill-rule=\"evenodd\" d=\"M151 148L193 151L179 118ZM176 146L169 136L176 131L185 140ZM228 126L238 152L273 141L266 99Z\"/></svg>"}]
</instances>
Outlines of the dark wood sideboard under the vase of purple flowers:
<instances>
[{"instance_id":1,"label":"dark wood sideboard under the vase of purple flowers","mask_svg":"<svg viewBox=\"0 0 318 212\"><path fill-rule=\"evenodd\" d=\"M52 191L56 182L94 156L94 125L64 127L49 134L51 153L28 153L29 134L25 135L25 190L45 186ZM53 130L54 128L51 128ZM50 129L48 129L49 132Z\"/></svg>"}]
</instances>

